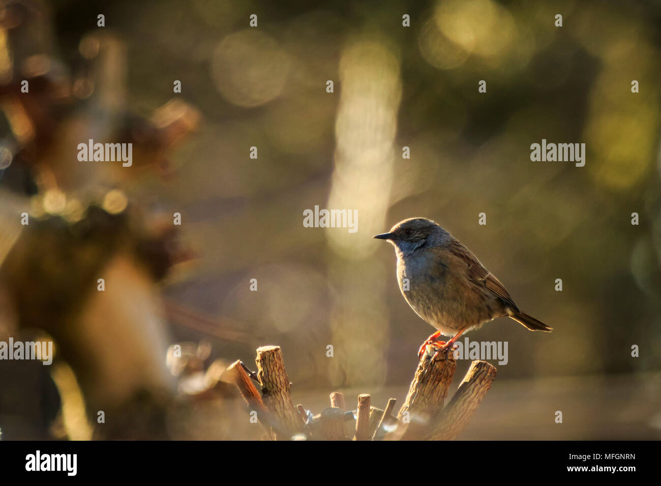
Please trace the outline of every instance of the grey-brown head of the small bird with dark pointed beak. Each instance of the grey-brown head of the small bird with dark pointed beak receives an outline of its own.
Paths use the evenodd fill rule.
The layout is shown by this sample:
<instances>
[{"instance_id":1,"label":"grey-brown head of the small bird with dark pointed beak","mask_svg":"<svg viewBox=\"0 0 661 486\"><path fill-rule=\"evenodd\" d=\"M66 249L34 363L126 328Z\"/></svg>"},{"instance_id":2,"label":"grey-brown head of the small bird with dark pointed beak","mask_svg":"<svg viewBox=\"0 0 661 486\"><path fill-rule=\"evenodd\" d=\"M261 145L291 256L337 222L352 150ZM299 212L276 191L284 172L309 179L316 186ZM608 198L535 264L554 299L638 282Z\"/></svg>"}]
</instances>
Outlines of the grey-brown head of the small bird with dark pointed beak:
<instances>
[{"instance_id":1,"label":"grey-brown head of the small bird with dark pointed beak","mask_svg":"<svg viewBox=\"0 0 661 486\"><path fill-rule=\"evenodd\" d=\"M394 225L388 233L374 236L389 241L403 255L436 247L448 237L449 233L445 229L427 218L409 218Z\"/></svg>"}]
</instances>

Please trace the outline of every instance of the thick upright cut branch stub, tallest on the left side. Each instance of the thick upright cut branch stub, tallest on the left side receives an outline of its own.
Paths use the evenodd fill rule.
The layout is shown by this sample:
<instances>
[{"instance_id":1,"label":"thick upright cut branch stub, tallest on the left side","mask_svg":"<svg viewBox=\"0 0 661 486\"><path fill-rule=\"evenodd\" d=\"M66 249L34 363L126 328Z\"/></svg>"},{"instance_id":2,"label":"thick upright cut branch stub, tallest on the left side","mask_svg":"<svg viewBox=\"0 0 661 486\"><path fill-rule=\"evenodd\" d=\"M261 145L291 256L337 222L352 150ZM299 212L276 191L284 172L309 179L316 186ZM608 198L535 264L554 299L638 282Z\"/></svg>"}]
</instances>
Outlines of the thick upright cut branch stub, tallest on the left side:
<instances>
[{"instance_id":1,"label":"thick upright cut branch stub, tallest on the left side","mask_svg":"<svg viewBox=\"0 0 661 486\"><path fill-rule=\"evenodd\" d=\"M257 348L257 379L262 384L262 401L266 409L280 421L288 437L276 434L276 440L289 440L302 432L299 411L295 409L290 394L290 381L285 371L280 346Z\"/></svg>"}]
</instances>

